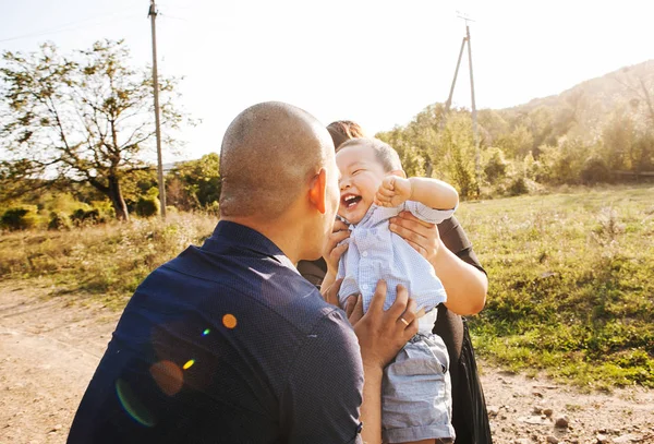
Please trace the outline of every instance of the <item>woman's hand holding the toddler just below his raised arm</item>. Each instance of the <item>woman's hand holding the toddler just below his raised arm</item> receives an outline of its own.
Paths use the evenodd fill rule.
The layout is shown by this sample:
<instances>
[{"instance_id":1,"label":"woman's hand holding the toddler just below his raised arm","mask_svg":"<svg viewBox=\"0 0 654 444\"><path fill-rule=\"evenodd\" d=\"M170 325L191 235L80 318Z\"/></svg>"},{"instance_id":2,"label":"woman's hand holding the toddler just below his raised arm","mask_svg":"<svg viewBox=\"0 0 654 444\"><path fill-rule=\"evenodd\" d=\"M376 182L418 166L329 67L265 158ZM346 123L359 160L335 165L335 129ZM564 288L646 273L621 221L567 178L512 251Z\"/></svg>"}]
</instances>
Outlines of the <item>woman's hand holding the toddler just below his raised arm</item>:
<instances>
[{"instance_id":1,"label":"woman's hand holding the toddler just below his raised arm","mask_svg":"<svg viewBox=\"0 0 654 444\"><path fill-rule=\"evenodd\" d=\"M410 212L390 218L390 230L404 239L432 265L440 248L438 227L419 219Z\"/></svg>"}]
</instances>

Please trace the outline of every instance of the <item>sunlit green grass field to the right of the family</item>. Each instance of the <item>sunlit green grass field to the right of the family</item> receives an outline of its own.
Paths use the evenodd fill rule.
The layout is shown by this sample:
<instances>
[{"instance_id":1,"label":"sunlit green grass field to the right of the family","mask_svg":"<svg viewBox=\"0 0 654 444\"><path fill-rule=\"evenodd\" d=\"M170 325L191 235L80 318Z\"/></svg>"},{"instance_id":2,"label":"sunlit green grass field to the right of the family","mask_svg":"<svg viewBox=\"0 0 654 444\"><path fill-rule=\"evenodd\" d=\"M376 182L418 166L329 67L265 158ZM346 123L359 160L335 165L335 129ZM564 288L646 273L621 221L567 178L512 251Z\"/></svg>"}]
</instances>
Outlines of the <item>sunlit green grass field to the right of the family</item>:
<instances>
[{"instance_id":1,"label":"sunlit green grass field to the right of the family","mask_svg":"<svg viewBox=\"0 0 654 444\"><path fill-rule=\"evenodd\" d=\"M488 272L480 356L579 385L654 386L654 188L463 205Z\"/></svg>"}]
</instances>

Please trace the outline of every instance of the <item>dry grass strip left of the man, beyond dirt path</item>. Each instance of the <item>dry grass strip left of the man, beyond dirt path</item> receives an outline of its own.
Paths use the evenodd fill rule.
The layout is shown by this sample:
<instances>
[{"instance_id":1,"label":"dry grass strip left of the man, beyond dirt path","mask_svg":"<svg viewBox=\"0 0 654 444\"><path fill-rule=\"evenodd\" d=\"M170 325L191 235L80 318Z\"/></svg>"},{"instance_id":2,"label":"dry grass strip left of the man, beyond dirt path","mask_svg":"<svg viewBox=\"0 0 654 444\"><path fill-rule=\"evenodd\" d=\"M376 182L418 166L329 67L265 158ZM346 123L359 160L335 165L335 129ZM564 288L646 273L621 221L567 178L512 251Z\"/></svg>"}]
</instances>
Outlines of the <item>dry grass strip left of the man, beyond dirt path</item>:
<instances>
[{"instance_id":1,"label":"dry grass strip left of the man, beyond dirt path","mask_svg":"<svg viewBox=\"0 0 654 444\"><path fill-rule=\"evenodd\" d=\"M51 277L66 291L125 297L149 272L210 236L216 218L202 214L134 219L73 230L27 230L0 237L3 278ZM122 299L122 298L121 298Z\"/></svg>"}]
</instances>

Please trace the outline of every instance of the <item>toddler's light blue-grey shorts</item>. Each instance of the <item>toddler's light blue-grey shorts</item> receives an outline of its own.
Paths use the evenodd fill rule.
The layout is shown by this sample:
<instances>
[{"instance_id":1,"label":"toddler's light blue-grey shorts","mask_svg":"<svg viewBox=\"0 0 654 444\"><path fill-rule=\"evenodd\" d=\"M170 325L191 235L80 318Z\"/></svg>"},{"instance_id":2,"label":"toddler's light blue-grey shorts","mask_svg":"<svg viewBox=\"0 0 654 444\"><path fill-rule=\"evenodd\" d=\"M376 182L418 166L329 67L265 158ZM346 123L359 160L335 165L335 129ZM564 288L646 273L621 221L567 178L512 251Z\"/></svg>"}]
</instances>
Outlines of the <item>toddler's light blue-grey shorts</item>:
<instances>
[{"instance_id":1,"label":"toddler's light blue-grey shorts","mask_svg":"<svg viewBox=\"0 0 654 444\"><path fill-rule=\"evenodd\" d=\"M385 443L455 439L449 357L436 335L415 335L384 370Z\"/></svg>"}]
</instances>

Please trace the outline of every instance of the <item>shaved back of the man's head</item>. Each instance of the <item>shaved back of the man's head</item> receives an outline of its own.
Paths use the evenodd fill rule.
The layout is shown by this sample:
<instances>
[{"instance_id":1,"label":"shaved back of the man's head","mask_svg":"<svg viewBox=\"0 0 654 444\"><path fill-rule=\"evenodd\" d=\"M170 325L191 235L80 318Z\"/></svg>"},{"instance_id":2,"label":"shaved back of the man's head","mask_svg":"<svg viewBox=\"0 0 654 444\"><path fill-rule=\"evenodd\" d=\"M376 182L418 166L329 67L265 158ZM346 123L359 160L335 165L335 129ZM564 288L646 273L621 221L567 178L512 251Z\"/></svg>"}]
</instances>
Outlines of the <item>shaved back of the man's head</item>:
<instances>
[{"instance_id":1,"label":"shaved back of the man's head","mask_svg":"<svg viewBox=\"0 0 654 444\"><path fill-rule=\"evenodd\" d=\"M329 157L329 133L308 112L279 101L247 108L222 139L221 216L277 218Z\"/></svg>"}]
</instances>

